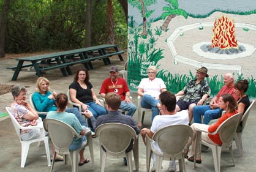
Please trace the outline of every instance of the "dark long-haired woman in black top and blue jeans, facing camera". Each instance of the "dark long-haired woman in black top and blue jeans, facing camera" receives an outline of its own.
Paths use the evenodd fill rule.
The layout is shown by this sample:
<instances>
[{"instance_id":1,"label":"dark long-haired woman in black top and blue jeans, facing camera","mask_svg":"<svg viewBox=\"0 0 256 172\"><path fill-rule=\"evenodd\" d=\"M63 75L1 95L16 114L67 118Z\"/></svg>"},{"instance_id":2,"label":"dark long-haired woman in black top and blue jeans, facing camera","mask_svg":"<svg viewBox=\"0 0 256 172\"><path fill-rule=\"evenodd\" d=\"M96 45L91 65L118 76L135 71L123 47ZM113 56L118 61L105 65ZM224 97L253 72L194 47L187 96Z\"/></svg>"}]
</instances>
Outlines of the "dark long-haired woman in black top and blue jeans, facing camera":
<instances>
[{"instance_id":1,"label":"dark long-haired woman in black top and blue jeans, facing camera","mask_svg":"<svg viewBox=\"0 0 256 172\"><path fill-rule=\"evenodd\" d=\"M107 114L107 110L102 107L89 82L88 70L79 69L77 71L73 83L69 86L69 92L72 102L80 104L83 111L91 111L95 119L102 114Z\"/></svg>"}]
</instances>

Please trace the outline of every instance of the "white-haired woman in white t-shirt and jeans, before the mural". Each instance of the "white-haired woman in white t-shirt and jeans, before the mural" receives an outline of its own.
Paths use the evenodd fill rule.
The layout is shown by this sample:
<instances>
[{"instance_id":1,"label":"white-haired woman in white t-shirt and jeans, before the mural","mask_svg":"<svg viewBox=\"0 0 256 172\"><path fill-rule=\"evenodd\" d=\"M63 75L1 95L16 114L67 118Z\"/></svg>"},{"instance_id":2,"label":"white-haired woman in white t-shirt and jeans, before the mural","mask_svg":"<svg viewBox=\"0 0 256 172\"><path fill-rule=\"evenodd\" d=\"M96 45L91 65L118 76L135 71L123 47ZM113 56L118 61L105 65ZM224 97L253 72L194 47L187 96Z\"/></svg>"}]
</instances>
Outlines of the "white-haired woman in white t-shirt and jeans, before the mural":
<instances>
[{"instance_id":1,"label":"white-haired woman in white t-shirt and jeans, before the mural","mask_svg":"<svg viewBox=\"0 0 256 172\"><path fill-rule=\"evenodd\" d=\"M142 97L141 107L151 108L152 118L159 114L159 94L166 91L166 86L161 78L156 78L157 68L153 65L148 67L148 78L143 78L138 85L138 95Z\"/></svg>"}]
</instances>

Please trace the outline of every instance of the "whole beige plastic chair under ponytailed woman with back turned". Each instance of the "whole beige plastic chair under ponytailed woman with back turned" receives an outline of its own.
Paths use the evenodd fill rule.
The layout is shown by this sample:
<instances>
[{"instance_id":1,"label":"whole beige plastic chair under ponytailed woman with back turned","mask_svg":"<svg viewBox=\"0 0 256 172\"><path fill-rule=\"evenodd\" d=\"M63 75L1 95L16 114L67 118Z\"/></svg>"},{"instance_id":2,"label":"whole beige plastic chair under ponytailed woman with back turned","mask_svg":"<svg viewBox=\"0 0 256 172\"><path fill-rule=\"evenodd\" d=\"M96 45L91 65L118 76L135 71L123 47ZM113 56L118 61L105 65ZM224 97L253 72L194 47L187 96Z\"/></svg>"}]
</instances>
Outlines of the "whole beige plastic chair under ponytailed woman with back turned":
<instances>
[{"instance_id":1,"label":"whole beige plastic chair under ponytailed woman with back turned","mask_svg":"<svg viewBox=\"0 0 256 172\"><path fill-rule=\"evenodd\" d=\"M53 171L53 166L55 164L56 153L64 155L64 163L66 164L67 155L70 155L70 162L72 166L72 171L78 171L78 154L81 150L85 149L86 146L89 146L89 151L91 154L92 160L92 169L94 170L94 155L93 155L93 146L92 146L92 137L91 130L86 132L87 141L84 141L82 146L75 151L69 151L69 146L73 142L73 138L81 138L81 135L71 127L69 124L65 122L59 121L57 119L45 119L43 120L43 127L45 130L49 132L51 141L55 145L55 153L53 156L53 162L51 163L51 171Z\"/></svg>"}]
</instances>

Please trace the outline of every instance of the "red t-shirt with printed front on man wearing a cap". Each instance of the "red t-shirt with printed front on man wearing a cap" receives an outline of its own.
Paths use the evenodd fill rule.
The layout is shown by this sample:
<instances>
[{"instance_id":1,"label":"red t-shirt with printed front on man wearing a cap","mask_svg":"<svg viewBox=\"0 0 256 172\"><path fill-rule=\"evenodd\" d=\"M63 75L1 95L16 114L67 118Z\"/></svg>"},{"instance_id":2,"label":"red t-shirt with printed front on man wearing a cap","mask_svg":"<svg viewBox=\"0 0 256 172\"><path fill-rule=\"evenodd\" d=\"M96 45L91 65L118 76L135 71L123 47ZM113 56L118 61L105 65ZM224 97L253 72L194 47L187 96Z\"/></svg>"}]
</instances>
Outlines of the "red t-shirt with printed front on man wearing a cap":
<instances>
[{"instance_id":1,"label":"red t-shirt with printed front on man wearing a cap","mask_svg":"<svg viewBox=\"0 0 256 172\"><path fill-rule=\"evenodd\" d=\"M100 93L107 94L108 92L116 92L120 95L121 100L126 99L126 92L130 91L126 80L123 78L117 78L116 81L111 81L111 78L107 78L103 81L100 88Z\"/></svg>"}]
</instances>

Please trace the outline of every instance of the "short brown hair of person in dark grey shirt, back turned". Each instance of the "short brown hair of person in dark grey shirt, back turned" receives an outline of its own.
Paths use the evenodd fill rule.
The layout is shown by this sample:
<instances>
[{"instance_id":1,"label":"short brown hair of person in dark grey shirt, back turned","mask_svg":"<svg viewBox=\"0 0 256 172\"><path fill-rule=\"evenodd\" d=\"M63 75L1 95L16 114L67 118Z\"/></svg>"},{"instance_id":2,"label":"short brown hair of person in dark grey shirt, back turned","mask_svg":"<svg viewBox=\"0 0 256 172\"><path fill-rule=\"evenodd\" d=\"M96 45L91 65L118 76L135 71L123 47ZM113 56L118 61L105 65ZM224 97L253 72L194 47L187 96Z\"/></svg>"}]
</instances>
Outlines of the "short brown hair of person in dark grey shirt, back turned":
<instances>
[{"instance_id":1,"label":"short brown hair of person in dark grey shirt, back turned","mask_svg":"<svg viewBox=\"0 0 256 172\"><path fill-rule=\"evenodd\" d=\"M112 110L118 110L121 105L121 97L115 92L108 92L105 96L105 102Z\"/></svg>"}]
</instances>

